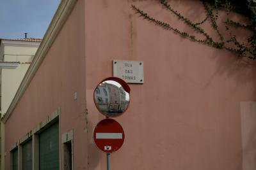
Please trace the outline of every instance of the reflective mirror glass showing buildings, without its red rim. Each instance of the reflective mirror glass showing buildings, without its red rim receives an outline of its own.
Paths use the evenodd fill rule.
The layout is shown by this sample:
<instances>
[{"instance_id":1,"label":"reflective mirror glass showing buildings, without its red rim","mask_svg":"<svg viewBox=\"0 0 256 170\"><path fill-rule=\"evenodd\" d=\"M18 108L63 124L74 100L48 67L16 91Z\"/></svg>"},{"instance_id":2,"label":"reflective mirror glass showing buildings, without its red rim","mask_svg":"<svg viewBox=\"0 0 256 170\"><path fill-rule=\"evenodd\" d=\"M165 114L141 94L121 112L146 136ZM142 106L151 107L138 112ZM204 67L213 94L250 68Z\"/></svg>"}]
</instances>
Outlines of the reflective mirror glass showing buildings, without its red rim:
<instances>
[{"instance_id":1,"label":"reflective mirror glass showing buildings, without its red rim","mask_svg":"<svg viewBox=\"0 0 256 170\"><path fill-rule=\"evenodd\" d=\"M95 89L95 103L101 112L115 117L126 110L129 94L119 83L104 81Z\"/></svg>"}]
</instances>

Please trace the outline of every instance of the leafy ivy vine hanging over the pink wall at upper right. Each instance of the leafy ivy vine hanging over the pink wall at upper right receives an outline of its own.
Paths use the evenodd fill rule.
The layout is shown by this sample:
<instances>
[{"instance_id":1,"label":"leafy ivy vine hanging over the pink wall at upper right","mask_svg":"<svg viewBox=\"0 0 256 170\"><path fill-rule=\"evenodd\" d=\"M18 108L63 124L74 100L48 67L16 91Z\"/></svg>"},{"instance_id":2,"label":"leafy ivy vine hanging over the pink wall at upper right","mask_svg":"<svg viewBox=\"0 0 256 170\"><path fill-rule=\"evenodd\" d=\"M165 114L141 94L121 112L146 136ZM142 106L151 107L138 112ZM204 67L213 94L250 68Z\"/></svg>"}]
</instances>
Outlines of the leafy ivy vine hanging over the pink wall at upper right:
<instances>
[{"instance_id":1,"label":"leafy ivy vine hanging over the pink wall at upper right","mask_svg":"<svg viewBox=\"0 0 256 170\"><path fill-rule=\"evenodd\" d=\"M189 25L192 29L199 32L204 36L203 39L198 39L195 36L189 34L188 32L180 31L179 29L173 27L172 25L163 22L161 20L157 20L154 17L151 17L140 8L132 5L132 10L136 11L142 17L147 19L150 22L154 22L156 25L163 27L164 29L174 31L184 38L188 38L191 41L196 41L198 43L202 43L204 45L212 46L214 48L225 49L230 52L236 53L239 57L248 57L249 59L256 59L256 0L245 0L245 1L236 1L236 0L200 0L204 5L205 9L205 19L202 22L194 23L189 20L189 18L184 17L178 11L174 10L172 6L166 0L158 0L161 5L163 5L165 10L170 11L176 17L178 17L182 22ZM234 20L227 19L223 24L225 24L226 31L229 31L230 38L225 39L223 34L221 34L217 20L219 17L219 11L226 11L227 15L229 15L230 11L239 13L244 17L248 18L249 24L241 24ZM214 41L212 37L205 32L205 30L200 26L204 24L207 20L211 22L212 28L218 33L218 41ZM246 29L251 31L253 34L250 36L246 42L240 42L236 38L236 34L230 31L230 27L236 27L241 29ZM230 45L231 44L231 45ZM230 47L232 46L232 47Z\"/></svg>"}]
</instances>

